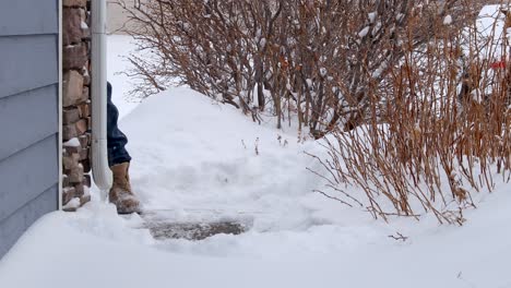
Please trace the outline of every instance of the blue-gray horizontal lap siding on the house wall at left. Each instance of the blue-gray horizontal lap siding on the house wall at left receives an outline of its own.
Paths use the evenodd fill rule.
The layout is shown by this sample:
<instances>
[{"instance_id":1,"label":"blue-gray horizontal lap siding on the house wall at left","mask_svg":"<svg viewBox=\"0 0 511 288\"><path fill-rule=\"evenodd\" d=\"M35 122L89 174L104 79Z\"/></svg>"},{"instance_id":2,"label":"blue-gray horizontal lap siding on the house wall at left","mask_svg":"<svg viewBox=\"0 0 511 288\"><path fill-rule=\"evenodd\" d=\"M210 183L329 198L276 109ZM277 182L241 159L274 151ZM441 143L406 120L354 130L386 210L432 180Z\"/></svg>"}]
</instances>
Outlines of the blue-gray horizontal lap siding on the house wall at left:
<instances>
[{"instance_id":1,"label":"blue-gray horizontal lap siding on the house wall at left","mask_svg":"<svg viewBox=\"0 0 511 288\"><path fill-rule=\"evenodd\" d=\"M0 257L58 208L58 0L0 0Z\"/></svg>"}]
</instances>

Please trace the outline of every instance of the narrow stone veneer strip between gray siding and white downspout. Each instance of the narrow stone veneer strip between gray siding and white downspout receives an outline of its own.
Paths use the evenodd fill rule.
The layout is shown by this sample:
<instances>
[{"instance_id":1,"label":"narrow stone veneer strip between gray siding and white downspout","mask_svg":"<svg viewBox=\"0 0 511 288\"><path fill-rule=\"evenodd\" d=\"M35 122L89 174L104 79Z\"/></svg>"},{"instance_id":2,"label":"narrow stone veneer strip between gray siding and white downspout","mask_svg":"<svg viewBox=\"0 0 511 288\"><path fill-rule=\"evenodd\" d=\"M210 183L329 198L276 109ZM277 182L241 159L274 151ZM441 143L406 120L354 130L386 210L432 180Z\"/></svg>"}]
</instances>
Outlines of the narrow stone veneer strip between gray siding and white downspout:
<instances>
[{"instance_id":1,"label":"narrow stone veneer strip between gray siding and white downspout","mask_svg":"<svg viewBox=\"0 0 511 288\"><path fill-rule=\"evenodd\" d=\"M91 1L62 1L62 205L91 201Z\"/></svg>"}]
</instances>

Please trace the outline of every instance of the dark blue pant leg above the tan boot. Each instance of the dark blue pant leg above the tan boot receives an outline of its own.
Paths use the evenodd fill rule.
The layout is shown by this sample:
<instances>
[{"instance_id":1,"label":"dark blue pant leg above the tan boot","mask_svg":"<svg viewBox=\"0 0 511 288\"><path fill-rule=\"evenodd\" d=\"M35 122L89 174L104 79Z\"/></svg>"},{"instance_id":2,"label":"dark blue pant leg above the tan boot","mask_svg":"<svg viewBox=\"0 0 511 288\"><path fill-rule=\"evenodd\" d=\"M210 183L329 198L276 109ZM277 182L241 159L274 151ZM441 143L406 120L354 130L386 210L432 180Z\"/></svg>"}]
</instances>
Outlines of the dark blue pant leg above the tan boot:
<instances>
[{"instance_id":1,"label":"dark blue pant leg above the tan boot","mask_svg":"<svg viewBox=\"0 0 511 288\"><path fill-rule=\"evenodd\" d=\"M108 164L117 164L131 160L131 156L124 146L128 137L119 130L117 121L119 120L119 110L111 101L111 85L107 83L107 143L108 143Z\"/></svg>"}]
</instances>

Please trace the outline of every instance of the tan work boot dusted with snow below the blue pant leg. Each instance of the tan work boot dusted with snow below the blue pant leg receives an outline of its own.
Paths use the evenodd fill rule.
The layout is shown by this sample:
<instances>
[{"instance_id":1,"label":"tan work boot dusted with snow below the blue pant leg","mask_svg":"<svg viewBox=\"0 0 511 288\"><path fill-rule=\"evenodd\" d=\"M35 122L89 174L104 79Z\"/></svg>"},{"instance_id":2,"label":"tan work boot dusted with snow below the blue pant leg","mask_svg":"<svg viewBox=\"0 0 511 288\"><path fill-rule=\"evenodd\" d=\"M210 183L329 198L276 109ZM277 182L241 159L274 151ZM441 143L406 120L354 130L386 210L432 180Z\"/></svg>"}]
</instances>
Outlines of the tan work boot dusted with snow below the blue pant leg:
<instances>
[{"instance_id":1,"label":"tan work boot dusted with snow below the blue pant leg","mask_svg":"<svg viewBox=\"0 0 511 288\"><path fill-rule=\"evenodd\" d=\"M109 199L117 206L117 213L131 214L140 212L140 202L131 191L130 176L128 170L130 163L121 163L110 167L114 173Z\"/></svg>"}]
</instances>

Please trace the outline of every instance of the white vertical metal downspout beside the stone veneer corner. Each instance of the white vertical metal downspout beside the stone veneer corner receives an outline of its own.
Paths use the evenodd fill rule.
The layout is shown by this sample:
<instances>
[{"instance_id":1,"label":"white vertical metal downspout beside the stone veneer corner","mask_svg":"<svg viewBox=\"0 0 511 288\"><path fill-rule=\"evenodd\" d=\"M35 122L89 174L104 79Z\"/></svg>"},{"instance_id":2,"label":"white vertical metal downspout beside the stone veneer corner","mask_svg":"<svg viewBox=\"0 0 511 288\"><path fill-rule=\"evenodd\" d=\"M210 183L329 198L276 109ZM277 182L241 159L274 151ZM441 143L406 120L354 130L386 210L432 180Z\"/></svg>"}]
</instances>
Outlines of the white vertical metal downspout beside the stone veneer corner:
<instances>
[{"instance_id":1,"label":"white vertical metal downspout beside the stone veneer corner","mask_svg":"<svg viewBox=\"0 0 511 288\"><path fill-rule=\"evenodd\" d=\"M105 200L112 182L107 151L106 1L92 0L91 12L92 171Z\"/></svg>"}]
</instances>

